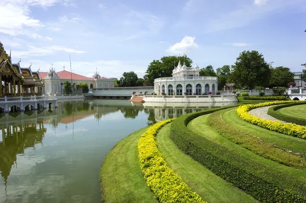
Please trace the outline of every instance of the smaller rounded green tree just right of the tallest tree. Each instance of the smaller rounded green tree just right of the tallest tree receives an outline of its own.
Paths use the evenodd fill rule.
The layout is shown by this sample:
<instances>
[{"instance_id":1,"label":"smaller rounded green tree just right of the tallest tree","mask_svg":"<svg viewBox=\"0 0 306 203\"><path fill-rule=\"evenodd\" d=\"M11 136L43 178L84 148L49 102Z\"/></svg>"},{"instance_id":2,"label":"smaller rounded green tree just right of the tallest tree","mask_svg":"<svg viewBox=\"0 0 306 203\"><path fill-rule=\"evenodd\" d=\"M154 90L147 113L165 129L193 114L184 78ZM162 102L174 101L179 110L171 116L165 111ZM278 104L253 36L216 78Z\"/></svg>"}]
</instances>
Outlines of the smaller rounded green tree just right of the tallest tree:
<instances>
[{"instance_id":1,"label":"smaller rounded green tree just right of the tallest tree","mask_svg":"<svg viewBox=\"0 0 306 203\"><path fill-rule=\"evenodd\" d=\"M290 71L290 68L279 66L275 68L270 68L270 70L270 88L273 88L275 86L287 86L289 82L294 81L294 73Z\"/></svg>"}]
</instances>

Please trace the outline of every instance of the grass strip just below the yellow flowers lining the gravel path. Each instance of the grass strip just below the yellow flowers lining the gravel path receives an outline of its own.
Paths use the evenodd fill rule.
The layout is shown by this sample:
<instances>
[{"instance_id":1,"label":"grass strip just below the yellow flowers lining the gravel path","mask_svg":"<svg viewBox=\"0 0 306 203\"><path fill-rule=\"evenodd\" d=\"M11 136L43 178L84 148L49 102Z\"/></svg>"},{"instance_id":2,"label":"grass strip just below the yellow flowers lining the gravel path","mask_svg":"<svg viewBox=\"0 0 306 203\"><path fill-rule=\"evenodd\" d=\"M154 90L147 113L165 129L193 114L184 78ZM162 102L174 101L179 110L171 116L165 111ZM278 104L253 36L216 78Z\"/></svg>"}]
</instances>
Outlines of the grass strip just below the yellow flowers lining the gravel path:
<instances>
[{"instance_id":1,"label":"grass strip just below the yellow flowers lining the gravel path","mask_svg":"<svg viewBox=\"0 0 306 203\"><path fill-rule=\"evenodd\" d=\"M236 128L237 130L256 136L265 142L275 144L277 147L287 149L288 151L304 155L306 154L305 139L288 136L250 124L239 118L236 109L222 112L222 119L226 124Z\"/></svg>"}]
</instances>

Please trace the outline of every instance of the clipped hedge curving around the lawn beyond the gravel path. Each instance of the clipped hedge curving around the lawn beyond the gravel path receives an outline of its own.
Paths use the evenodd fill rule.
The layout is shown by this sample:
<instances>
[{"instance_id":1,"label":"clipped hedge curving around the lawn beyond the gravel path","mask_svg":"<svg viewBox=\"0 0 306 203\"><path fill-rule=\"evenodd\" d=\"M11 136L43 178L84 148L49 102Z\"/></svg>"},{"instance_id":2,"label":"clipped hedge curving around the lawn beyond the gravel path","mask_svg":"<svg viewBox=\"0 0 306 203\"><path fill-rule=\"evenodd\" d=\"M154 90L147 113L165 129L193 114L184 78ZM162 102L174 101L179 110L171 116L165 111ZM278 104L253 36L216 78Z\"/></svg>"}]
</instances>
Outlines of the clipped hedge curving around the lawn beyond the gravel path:
<instances>
[{"instance_id":1,"label":"clipped hedge curving around the lawn beyond the gravel path","mask_svg":"<svg viewBox=\"0 0 306 203\"><path fill-rule=\"evenodd\" d=\"M286 108L286 107L301 105L301 104L306 104L306 102L273 106L273 107L268 109L268 114L271 115L271 117L274 117L274 118L282 120L282 121L286 121L288 123L295 123L297 125L306 126L306 119L291 117L290 115L286 115L286 114L283 114L283 113L277 111L280 108Z\"/></svg>"}]
</instances>

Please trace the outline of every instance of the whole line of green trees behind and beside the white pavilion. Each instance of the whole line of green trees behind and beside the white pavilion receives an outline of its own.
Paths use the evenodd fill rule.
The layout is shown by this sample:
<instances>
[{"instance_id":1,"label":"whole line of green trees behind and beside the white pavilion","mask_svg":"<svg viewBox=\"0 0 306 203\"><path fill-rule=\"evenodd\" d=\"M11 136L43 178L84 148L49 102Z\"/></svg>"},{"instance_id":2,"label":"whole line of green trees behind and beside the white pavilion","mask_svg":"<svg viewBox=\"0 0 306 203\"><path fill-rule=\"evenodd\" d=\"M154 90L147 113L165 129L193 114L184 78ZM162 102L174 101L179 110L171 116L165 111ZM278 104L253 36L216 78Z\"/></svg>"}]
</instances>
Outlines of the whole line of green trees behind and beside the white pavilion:
<instances>
[{"instance_id":1,"label":"whole line of green trees behind and beside the white pavilion","mask_svg":"<svg viewBox=\"0 0 306 203\"><path fill-rule=\"evenodd\" d=\"M163 56L160 60L152 61L143 78L138 78L135 72L124 72L119 80L115 80L115 86L153 86L154 79L171 77L173 69L181 61L190 67L192 60L184 56ZM226 83L235 83L236 89L247 88L264 89L295 85L294 73L290 68L278 66L272 67L272 63L265 61L262 53L256 50L243 51L239 54L234 65L224 65L214 70L212 65L199 69L199 76L218 77L218 88L222 90ZM306 67L306 64L302 64ZM306 69L302 71L301 80L306 80Z\"/></svg>"}]
</instances>

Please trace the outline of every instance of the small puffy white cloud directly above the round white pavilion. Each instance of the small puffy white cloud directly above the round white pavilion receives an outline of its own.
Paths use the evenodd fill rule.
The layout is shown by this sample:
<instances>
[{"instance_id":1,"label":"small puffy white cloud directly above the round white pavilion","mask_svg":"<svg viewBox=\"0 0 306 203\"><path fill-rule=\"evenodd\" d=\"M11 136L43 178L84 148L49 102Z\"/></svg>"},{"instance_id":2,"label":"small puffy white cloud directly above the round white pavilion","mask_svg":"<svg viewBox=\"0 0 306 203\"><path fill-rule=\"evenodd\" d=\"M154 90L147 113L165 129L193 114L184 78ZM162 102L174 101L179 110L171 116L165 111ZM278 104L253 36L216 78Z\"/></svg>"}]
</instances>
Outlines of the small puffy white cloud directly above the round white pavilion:
<instances>
[{"instance_id":1,"label":"small puffy white cloud directly above the round white pavilion","mask_svg":"<svg viewBox=\"0 0 306 203\"><path fill-rule=\"evenodd\" d=\"M186 53L189 50L196 49L199 46L194 42L195 37L185 36L181 42L170 46L166 51L171 53Z\"/></svg>"}]
</instances>

